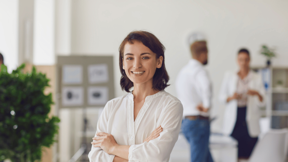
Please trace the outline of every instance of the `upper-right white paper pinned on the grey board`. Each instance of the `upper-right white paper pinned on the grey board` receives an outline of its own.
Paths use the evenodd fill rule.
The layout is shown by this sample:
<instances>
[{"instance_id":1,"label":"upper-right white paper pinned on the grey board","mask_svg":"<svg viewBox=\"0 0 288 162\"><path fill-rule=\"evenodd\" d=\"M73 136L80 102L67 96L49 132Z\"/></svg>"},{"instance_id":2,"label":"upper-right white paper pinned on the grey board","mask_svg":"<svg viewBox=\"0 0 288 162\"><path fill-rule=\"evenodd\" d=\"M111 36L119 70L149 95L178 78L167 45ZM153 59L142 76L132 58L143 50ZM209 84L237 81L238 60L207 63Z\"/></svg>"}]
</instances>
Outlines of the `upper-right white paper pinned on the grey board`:
<instances>
[{"instance_id":1,"label":"upper-right white paper pinned on the grey board","mask_svg":"<svg viewBox=\"0 0 288 162\"><path fill-rule=\"evenodd\" d=\"M108 65L93 64L88 66L88 80L90 84L109 81Z\"/></svg>"}]
</instances>

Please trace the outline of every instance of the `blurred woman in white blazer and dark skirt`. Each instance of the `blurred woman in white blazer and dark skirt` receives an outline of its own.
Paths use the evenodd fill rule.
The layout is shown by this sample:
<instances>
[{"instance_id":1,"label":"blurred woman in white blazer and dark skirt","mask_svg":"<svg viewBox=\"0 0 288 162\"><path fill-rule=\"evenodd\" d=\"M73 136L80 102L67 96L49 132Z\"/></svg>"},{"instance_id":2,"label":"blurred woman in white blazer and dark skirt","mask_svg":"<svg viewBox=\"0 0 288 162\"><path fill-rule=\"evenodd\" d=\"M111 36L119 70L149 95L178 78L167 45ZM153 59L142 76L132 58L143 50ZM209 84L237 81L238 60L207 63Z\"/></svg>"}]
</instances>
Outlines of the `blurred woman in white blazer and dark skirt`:
<instances>
[{"instance_id":1,"label":"blurred woman in white blazer and dark skirt","mask_svg":"<svg viewBox=\"0 0 288 162\"><path fill-rule=\"evenodd\" d=\"M261 75L250 70L250 54L240 49L239 70L226 72L220 89L220 101L226 104L223 133L238 141L238 158L249 158L260 133L260 107L264 107L265 89Z\"/></svg>"}]
</instances>

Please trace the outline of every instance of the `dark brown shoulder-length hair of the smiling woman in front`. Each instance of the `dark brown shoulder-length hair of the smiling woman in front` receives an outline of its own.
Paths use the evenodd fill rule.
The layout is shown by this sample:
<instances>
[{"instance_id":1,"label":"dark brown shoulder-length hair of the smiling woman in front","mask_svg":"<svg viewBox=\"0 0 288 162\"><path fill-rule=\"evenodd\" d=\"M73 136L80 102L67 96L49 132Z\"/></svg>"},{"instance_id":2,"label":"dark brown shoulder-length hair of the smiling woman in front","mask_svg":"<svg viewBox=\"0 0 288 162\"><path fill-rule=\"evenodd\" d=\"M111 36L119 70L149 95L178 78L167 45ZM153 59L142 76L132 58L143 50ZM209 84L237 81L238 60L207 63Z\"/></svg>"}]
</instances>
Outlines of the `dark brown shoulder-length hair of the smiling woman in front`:
<instances>
[{"instance_id":1,"label":"dark brown shoulder-length hair of the smiling woman in front","mask_svg":"<svg viewBox=\"0 0 288 162\"><path fill-rule=\"evenodd\" d=\"M150 32L146 31L133 31L127 35L127 37L122 41L120 47L119 47L119 67L120 72L122 74L120 79L120 85L122 87L122 90L125 90L127 92L130 92L130 88L132 88L133 82L128 78L128 76L125 73L125 70L123 69L123 57L124 57L124 47L125 44L134 44L133 41L141 41L144 46L148 47L152 52L156 54L156 58L159 58L160 56L163 57L162 66L160 68L156 68L155 74L153 76L153 86L152 88L156 90L163 90L167 86L169 86L167 83L169 81L169 75L167 73L167 70L165 68L165 57L164 57L164 51L165 47L163 44L158 40L158 38L153 35Z\"/></svg>"}]
</instances>

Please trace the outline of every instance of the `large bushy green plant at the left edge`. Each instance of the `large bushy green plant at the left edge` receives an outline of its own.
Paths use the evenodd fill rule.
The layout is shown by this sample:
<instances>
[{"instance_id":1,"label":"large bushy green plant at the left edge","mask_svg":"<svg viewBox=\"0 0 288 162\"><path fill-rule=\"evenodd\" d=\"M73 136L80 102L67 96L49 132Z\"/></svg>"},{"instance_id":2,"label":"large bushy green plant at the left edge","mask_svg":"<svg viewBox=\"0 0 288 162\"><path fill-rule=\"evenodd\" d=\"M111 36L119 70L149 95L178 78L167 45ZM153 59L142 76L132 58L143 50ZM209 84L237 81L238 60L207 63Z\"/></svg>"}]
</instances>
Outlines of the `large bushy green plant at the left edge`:
<instances>
[{"instance_id":1,"label":"large bushy green plant at the left edge","mask_svg":"<svg viewBox=\"0 0 288 162\"><path fill-rule=\"evenodd\" d=\"M48 116L52 94L44 94L49 79L35 67L24 74L24 67L22 64L8 73L1 65L0 161L39 161L43 147L50 147L58 133L60 119Z\"/></svg>"}]
</instances>

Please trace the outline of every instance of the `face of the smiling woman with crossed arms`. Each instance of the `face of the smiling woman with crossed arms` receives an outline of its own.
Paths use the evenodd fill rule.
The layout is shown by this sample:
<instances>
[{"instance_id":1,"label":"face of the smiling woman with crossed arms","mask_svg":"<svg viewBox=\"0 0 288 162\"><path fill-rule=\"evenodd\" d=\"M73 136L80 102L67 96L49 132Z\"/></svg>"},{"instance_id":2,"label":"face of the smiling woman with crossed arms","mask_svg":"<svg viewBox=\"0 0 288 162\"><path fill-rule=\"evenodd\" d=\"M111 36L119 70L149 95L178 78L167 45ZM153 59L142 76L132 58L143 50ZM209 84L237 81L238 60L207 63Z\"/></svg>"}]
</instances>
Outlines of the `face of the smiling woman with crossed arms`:
<instances>
[{"instance_id":1,"label":"face of the smiling woman with crossed arms","mask_svg":"<svg viewBox=\"0 0 288 162\"><path fill-rule=\"evenodd\" d=\"M126 43L123 52L123 69L133 84L153 82L156 68L162 66L163 57L156 54L141 41Z\"/></svg>"}]
</instances>

